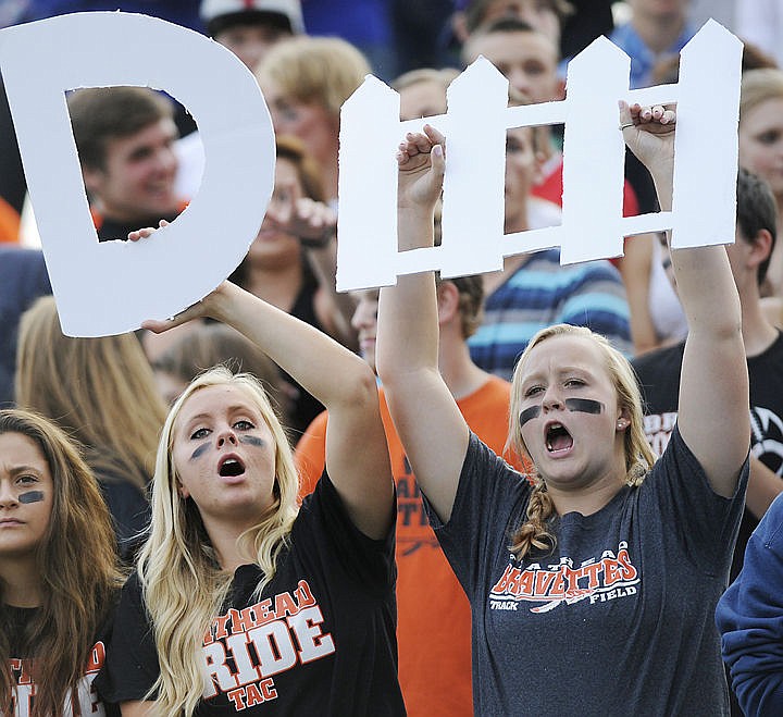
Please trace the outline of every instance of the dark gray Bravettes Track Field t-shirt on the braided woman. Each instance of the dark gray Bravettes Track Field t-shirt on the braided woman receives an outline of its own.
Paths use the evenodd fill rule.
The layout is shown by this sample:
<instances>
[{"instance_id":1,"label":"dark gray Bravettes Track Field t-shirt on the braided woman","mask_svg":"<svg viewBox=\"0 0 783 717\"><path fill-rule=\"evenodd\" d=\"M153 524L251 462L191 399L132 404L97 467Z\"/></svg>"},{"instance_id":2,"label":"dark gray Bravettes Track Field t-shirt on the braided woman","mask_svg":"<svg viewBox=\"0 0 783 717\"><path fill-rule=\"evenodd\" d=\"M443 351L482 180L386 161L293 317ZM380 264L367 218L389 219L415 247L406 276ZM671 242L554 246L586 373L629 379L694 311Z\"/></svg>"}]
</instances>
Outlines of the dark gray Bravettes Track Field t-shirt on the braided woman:
<instances>
[{"instance_id":1,"label":"dark gray Bravettes Track Field t-shirt on the braided woman","mask_svg":"<svg viewBox=\"0 0 783 717\"><path fill-rule=\"evenodd\" d=\"M713 615L747 463L723 498L675 430L637 489L555 518L517 560L530 484L471 434L451 518L430 519L471 601L477 715L728 715Z\"/></svg>"}]
</instances>

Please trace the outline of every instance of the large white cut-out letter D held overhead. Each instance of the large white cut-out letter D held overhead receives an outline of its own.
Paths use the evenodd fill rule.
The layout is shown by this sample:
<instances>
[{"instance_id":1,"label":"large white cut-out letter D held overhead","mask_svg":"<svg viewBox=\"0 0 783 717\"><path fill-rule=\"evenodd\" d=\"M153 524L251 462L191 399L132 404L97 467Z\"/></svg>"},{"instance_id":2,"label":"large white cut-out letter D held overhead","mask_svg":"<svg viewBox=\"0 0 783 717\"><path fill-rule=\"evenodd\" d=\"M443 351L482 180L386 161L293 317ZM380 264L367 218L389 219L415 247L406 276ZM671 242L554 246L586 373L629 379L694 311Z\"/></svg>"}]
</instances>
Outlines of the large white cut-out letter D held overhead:
<instances>
[{"instance_id":1,"label":"large white cut-out letter D held overhead","mask_svg":"<svg viewBox=\"0 0 783 717\"><path fill-rule=\"evenodd\" d=\"M232 52L162 20L89 12L0 30L0 66L66 334L171 317L237 267L272 195L275 149L261 90ZM119 85L162 89L187 107L207 163L198 196L169 227L99 245L65 91Z\"/></svg>"}]
</instances>

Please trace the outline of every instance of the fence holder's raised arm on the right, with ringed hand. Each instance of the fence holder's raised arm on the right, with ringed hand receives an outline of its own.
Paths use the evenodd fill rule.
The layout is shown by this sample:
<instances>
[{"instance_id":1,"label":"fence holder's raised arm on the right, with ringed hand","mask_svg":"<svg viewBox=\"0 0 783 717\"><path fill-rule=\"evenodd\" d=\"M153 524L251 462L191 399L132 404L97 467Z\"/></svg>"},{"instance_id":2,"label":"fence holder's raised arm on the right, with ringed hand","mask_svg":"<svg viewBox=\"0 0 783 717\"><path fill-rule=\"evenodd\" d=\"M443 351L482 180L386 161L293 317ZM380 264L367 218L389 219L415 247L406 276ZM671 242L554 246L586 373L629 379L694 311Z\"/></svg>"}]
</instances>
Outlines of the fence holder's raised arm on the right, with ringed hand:
<instances>
[{"instance_id":1,"label":"fence holder's raised arm on the right, with ringed hand","mask_svg":"<svg viewBox=\"0 0 783 717\"><path fill-rule=\"evenodd\" d=\"M625 143L652 175L661 209L670 210L674 112L623 102L620 124ZM725 242L733 237L732 226ZM672 268L688 324L678 425L712 489L728 497L750 444L739 297L723 246L674 249Z\"/></svg>"}]
</instances>

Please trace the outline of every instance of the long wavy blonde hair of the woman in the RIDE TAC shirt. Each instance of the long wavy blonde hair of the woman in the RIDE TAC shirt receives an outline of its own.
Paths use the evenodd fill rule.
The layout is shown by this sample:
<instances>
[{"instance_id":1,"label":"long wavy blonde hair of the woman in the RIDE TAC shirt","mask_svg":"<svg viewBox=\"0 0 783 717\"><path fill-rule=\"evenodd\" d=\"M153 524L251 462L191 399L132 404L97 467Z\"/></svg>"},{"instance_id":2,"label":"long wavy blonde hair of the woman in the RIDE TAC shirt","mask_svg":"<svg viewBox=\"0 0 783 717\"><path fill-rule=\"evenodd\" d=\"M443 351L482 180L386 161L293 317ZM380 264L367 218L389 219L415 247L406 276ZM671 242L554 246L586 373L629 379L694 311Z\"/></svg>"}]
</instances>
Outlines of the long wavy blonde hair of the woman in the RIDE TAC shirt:
<instances>
[{"instance_id":1,"label":"long wavy blonde hair of the woman in the RIDE TAC shirt","mask_svg":"<svg viewBox=\"0 0 783 717\"><path fill-rule=\"evenodd\" d=\"M144 601L152 621L160 677L158 715L192 715L204 689L199 654L203 635L224 604L233 576L217 565L215 552L192 499L176 489L172 459L174 423L185 403L210 386L241 388L258 407L275 440L274 502L259 511L258 522L239 537L239 548L263 570L259 595L275 574L298 512L299 478L286 434L259 381L215 367L197 376L172 406L163 425L152 479L152 521L149 537L137 558Z\"/></svg>"}]
</instances>

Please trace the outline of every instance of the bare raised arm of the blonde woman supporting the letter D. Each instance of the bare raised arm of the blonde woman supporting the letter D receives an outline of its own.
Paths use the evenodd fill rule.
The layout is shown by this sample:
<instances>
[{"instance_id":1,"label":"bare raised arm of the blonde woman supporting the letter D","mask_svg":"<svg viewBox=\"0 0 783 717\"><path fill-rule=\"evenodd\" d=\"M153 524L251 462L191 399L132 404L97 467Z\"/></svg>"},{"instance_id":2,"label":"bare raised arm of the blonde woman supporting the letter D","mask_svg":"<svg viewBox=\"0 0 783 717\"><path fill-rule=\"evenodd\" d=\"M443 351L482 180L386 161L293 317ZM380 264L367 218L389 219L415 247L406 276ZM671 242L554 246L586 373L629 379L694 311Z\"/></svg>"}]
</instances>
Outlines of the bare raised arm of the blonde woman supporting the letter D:
<instances>
[{"instance_id":1,"label":"bare raised arm of the blonde woman supporting the letter D","mask_svg":"<svg viewBox=\"0 0 783 717\"><path fill-rule=\"evenodd\" d=\"M357 528L370 537L386 535L394 483L370 367L318 329L229 282L171 321L145 327L161 332L202 316L245 334L328 409L330 478Z\"/></svg>"}]
</instances>

